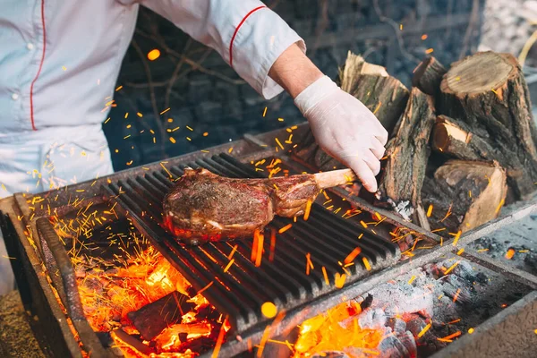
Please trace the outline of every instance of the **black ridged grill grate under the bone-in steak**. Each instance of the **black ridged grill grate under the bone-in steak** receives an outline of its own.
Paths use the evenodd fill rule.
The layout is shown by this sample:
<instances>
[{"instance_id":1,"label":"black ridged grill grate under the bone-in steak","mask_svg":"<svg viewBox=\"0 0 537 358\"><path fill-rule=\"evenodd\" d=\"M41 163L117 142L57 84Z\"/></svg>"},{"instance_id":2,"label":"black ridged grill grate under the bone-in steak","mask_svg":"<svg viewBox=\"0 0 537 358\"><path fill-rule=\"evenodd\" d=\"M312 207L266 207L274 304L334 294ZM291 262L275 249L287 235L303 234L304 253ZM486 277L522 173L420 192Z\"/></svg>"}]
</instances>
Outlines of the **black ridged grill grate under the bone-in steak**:
<instances>
[{"instance_id":1,"label":"black ridged grill grate under the bone-in steak","mask_svg":"<svg viewBox=\"0 0 537 358\"><path fill-rule=\"evenodd\" d=\"M226 154L173 166L169 171L180 176L186 166L205 167L217 175L228 177L263 177ZM162 200L173 186L168 177L164 170L150 172L110 183L103 187L103 191L108 199L115 200L132 217L135 226L192 286L197 290L205 288L203 295L219 311L228 315L236 333L268 323L260 311L265 302L275 303L279 310L290 311L337 290L333 277L337 272L342 272L337 261L343 260L356 246L362 252L354 260L354 265L346 268L351 277L347 277L345 286L388 267L400 258L396 245L349 220L337 217L319 204L312 206L308 221L299 219L293 223L292 219L274 219L269 225L271 229L277 230L289 223L293 223L293 226L285 233L277 234L272 262L268 260L269 235L265 235L265 254L259 268L250 260L251 240L183 247L161 226ZM360 234L362 239L357 240ZM224 272L229 263L227 257L235 245L234 264ZM315 265L310 275L305 272L305 255L308 252ZM363 257L369 260L371 272L364 267ZM321 267L326 268L330 285L327 285Z\"/></svg>"}]
</instances>

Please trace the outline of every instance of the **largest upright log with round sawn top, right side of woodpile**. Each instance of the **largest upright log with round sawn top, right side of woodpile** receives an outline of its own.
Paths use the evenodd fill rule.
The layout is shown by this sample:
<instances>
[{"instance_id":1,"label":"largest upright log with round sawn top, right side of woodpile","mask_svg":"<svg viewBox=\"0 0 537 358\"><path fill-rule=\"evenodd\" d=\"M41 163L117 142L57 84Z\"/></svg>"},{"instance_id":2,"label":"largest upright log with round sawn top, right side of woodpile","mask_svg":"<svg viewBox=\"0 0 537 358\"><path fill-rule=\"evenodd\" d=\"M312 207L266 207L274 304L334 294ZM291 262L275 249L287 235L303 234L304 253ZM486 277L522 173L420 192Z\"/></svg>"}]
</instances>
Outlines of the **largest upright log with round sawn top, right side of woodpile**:
<instances>
[{"instance_id":1,"label":"largest upright log with round sawn top, right side of woodpile","mask_svg":"<svg viewBox=\"0 0 537 358\"><path fill-rule=\"evenodd\" d=\"M537 128L513 55L482 52L453 64L440 84L437 107L452 120L435 128L434 148L457 158L498 160L515 199L535 190Z\"/></svg>"}]
</instances>

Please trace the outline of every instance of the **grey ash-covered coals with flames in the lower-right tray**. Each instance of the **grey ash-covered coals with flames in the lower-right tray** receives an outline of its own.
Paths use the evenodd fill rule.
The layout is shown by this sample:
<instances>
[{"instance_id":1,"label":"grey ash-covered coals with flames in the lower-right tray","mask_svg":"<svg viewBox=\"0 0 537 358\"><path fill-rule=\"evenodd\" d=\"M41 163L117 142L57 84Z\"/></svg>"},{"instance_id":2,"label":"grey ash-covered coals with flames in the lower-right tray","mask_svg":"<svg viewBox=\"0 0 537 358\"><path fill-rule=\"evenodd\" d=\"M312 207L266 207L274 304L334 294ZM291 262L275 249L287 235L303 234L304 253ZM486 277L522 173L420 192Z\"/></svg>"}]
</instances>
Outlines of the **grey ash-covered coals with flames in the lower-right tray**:
<instances>
[{"instance_id":1,"label":"grey ash-covered coals with flames in the lower-right tray","mask_svg":"<svg viewBox=\"0 0 537 358\"><path fill-rule=\"evenodd\" d=\"M337 322L340 328L381 332L374 354L370 347L339 346L333 352L319 352L311 345L311 356L346 358L373 354L408 358L435 354L507 302L505 293L512 287L506 282L505 292L493 292L490 280L498 279L495 275L473 268L460 257L416 268L355 297L351 303L360 303L362 310ZM319 335L323 335L321 330Z\"/></svg>"}]
</instances>

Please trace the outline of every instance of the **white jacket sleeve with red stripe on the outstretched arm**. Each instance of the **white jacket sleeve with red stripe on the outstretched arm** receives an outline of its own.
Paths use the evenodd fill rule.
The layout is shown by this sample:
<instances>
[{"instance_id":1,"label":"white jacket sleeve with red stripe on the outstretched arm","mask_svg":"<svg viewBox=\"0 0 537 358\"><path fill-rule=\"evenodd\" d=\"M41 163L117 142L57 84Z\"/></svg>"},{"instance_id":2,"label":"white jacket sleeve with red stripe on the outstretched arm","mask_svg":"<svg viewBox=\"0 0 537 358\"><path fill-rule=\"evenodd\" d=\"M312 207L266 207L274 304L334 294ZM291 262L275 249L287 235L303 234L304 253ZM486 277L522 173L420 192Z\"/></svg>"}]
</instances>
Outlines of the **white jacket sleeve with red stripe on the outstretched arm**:
<instances>
[{"instance_id":1,"label":"white jacket sleeve with red stripe on the outstretched arm","mask_svg":"<svg viewBox=\"0 0 537 358\"><path fill-rule=\"evenodd\" d=\"M303 39L259 0L141 0L204 45L266 99L283 91L268 70L287 47Z\"/></svg>"}]
</instances>

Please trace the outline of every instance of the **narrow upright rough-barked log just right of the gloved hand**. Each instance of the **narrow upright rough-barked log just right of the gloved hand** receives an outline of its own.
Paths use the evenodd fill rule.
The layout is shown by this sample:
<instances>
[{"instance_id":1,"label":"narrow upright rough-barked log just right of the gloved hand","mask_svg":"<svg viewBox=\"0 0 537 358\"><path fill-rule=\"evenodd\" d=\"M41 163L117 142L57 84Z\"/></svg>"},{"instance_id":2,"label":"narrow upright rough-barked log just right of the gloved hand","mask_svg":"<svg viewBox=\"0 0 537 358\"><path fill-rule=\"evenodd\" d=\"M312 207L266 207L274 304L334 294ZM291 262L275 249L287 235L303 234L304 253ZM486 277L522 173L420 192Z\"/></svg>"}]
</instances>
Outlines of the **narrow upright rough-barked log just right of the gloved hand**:
<instances>
[{"instance_id":1,"label":"narrow upright rough-barked log just right of the gloved hand","mask_svg":"<svg viewBox=\"0 0 537 358\"><path fill-rule=\"evenodd\" d=\"M430 155L429 138L435 124L433 98L413 88L405 113L388 141L386 163L377 199L386 202L402 217L426 226L416 211L421 205L425 168ZM422 209L419 210L422 213Z\"/></svg>"}]
</instances>

